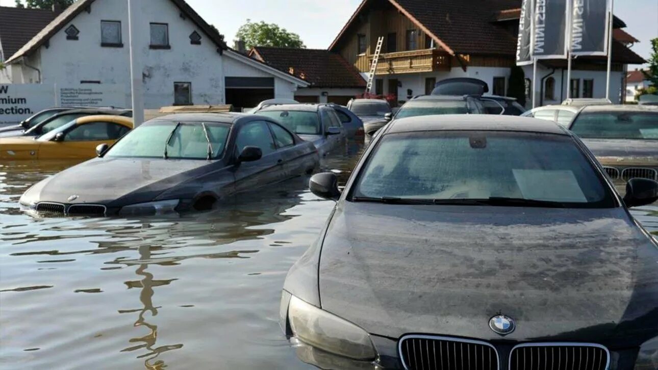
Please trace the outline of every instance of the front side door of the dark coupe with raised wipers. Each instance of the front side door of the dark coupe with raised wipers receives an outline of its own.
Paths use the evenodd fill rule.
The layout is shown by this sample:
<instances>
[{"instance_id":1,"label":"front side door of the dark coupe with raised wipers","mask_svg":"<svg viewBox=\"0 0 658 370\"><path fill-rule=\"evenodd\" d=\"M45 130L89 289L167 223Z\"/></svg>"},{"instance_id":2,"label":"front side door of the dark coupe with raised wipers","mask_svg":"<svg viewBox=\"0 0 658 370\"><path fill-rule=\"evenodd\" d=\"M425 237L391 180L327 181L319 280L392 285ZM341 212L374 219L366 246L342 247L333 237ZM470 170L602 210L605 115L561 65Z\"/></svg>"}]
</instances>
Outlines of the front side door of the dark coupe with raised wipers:
<instances>
[{"instance_id":1,"label":"front side door of the dark coupe with raised wipers","mask_svg":"<svg viewBox=\"0 0 658 370\"><path fill-rule=\"evenodd\" d=\"M268 122L253 121L240 127L232 150L236 161L244 147L259 147L263 156L253 162L235 162L236 192L253 190L286 179L284 160L274 144Z\"/></svg>"}]
</instances>

